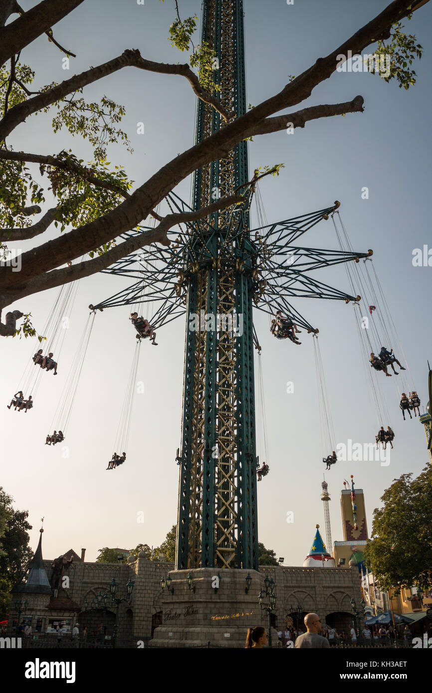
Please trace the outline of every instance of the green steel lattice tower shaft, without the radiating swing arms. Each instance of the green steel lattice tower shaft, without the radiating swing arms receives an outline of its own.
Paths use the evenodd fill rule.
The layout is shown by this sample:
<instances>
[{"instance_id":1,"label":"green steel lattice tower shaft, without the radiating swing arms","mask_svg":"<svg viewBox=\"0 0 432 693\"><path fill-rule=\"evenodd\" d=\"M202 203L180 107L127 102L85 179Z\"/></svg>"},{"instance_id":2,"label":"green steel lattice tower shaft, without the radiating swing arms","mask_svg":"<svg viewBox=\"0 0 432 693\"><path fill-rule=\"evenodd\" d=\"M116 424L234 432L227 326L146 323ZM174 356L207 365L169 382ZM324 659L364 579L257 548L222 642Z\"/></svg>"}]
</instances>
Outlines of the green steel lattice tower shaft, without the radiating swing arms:
<instances>
[{"instance_id":1,"label":"green steel lattice tower shaft, without the radiating swing arms","mask_svg":"<svg viewBox=\"0 0 432 693\"><path fill-rule=\"evenodd\" d=\"M221 103L228 112L243 115L242 0L204 3L202 42L214 49ZM211 106L199 101L196 142L223 127L221 121ZM232 195L247 182L248 148L243 141L227 159L196 171L193 209ZM248 209L216 213L209 225L204 238L196 238L193 244L200 261L197 271L189 274L187 311L198 315L199 328L187 326L176 562L178 569L257 568ZM217 324L205 329L211 321L205 322L205 315L214 316ZM243 322L242 330L239 322Z\"/></svg>"}]
</instances>

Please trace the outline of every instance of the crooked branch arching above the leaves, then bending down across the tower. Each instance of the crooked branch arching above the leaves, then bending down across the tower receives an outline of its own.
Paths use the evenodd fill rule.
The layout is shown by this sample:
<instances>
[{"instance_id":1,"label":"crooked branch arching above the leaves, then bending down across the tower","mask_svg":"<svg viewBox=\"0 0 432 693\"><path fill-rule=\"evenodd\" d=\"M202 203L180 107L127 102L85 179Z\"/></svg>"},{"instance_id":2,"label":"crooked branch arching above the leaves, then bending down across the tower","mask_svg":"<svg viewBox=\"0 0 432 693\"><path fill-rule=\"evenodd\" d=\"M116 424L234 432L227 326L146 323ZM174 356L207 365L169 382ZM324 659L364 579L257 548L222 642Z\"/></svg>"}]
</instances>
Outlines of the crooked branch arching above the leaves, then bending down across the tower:
<instances>
[{"instance_id":1,"label":"crooked branch arching above the leaves, then bending down across the tower","mask_svg":"<svg viewBox=\"0 0 432 693\"><path fill-rule=\"evenodd\" d=\"M1 32L0 32L1 37ZM92 67L85 72L81 72L79 75L74 75L69 80L64 80L60 82L57 87L43 91L33 98L29 98L22 103L14 106L10 109L8 114L0 120L0 141L6 139L8 134L12 132L14 128L22 123L31 116L31 114L39 111L42 108L52 105L55 101L58 101L67 94L72 94L74 91L81 89L92 82L106 77L107 75L116 72L117 70L123 69L123 67L137 67L141 70L146 70L150 72L157 72L166 75L180 75L186 78L191 85L194 93L205 103L208 103L216 109L218 113L229 120L233 114L228 112L220 103L217 98L207 94L201 87L200 82L196 74L191 70L187 64L169 64L164 62L153 62L153 60L145 60L141 58L141 54L137 50L126 50L113 58L113 60L108 60L98 67Z\"/></svg>"}]
</instances>

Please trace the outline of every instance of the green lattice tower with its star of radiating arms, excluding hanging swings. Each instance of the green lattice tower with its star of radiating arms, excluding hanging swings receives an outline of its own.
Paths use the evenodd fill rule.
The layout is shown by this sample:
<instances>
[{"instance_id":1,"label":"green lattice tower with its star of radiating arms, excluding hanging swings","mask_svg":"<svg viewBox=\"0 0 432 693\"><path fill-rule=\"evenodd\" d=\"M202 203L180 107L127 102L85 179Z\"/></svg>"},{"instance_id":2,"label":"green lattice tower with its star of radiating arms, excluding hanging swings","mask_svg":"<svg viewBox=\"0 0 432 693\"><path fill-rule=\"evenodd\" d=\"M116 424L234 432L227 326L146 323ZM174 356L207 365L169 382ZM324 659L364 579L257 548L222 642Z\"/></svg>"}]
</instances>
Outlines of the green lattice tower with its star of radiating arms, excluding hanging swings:
<instances>
[{"instance_id":1,"label":"green lattice tower with its star of radiating arms, excluding hanging swings","mask_svg":"<svg viewBox=\"0 0 432 693\"><path fill-rule=\"evenodd\" d=\"M204 0L202 41L214 51L214 95L232 119L245 113L243 0ZM196 142L223 128L216 110L198 100ZM331 207L250 229L259 180L248 174L248 143L196 171L192 207L171 192L175 211L199 210L219 197L243 202L196 222L184 222L169 247L151 245L105 272L134 277L132 286L90 308L153 304L160 329L187 315L178 499L176 568L258 568L252 306L277 310L309 333L318 330L289 299L359 300L309 277L309 271L368 254L291 245ZM142 232L145 226L140 227ZM130 238L137 231L123 234ZM170 236L170 232L169 232ZM286 337L287 335L284 335ZM280 337L279 337L280 338ZM287 344L289 342L286 342Z\"/></svg>"}]
</instances>

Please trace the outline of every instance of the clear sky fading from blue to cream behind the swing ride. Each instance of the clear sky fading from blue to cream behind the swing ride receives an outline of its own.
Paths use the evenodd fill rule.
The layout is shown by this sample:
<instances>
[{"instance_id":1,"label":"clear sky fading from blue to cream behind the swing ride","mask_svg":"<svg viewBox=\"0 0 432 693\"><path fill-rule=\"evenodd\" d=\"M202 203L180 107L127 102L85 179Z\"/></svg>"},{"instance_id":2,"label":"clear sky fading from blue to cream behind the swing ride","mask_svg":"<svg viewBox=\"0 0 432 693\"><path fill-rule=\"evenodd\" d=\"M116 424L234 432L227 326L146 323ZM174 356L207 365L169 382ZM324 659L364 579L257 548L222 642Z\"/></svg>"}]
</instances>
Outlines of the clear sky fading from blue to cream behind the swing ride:
<instances>
[{"instance_id":1,"label":"clear sky fading from blue to cream behind the swing ride","mask_svg":"<svg viewBox=\"0 0 432 693\"><path fill-rule=\"evenodd\" d=\"M183 17L193 12L200 17L198 0L180 0L179 4ZM327 55L387 4L383 0L295 0L288 6L284 0L245 0L248 103L255 105L279 91L288 81L288 74L298 75ZM21 0L25 9L33 5L33 0ZM184 54L172 49L166 38L173 18L171 0L146 0L144 6L135 0L87 0L54 28L57 40L77 54L71 59L69 73L62 69L62 54L45 37L22 51L21 61L36 70L35 85L60 81L126 48L138 48L151 60L184 62ZM432 362L432 267L413 267L412 258L413 249L424 244L432 247L431 8L422 8L405 24L408 33L414 33L424 46L424 56L415 64L414 87L405 91L368 73L334 73L314 89L306 105L337 103L361 94L365 112L313 121L293 135L279 132L255 137L250 143L250 170L265 164L285 164L279 177L269 177L261 184L269 222L322 209L340 200L340 213L354 248L374 249L374 266L423 410L427 402L428 358ZM89 100L103 94L125 105L122 126L130 134L135 150L129 155L121 146L112 146L108 159L124 164L136 185L193 143L196 98L186 80L126 69L84 92ZM137 134L139 121L145 124L144 135ZM32 116L15 130L10 145L42 154L70 147L78 157L90 159L91 150L85 142L64 132L53 135L50 123L50 117L44 114ZM361 198L364 186L369 188L368 200ZM178 188L188 201L190 191L189 179ZM252 224L258 225L255 209L252 215ZM54 238L57 231L50 234ZM311 247L338 248L330 220L321 222L302 240ZM21 247L27 249L30 243ZM349 291L341 266L318 270L315 276ZM87 320L87 306L114 294L126 283L121 277L107 275L80 282L74 308L67 316L70 326L58 376L43 374L35 406L27 414L8 411L6 403L21 387L19 378L35 345L24 339L3 338L0 342L0 483L15 498L19 509L28 509L33 547L44 516L46 558L71 547L78 554L81 547L86 547L87 560L94 560L97 550L104 546L158 545L176 521L179 468L175 450L180 445L184 319L159 331L157 349L148 341L141 345L137 378L144 383L144 394L135 396L126 464L105 474L107 460L114 452L136 342L128 322L128 307L96 315L64 441L69 458L62 457L60 445L44 446ZM36 328L42 331L57 293L55 289L28 297L13 308L31 311ZM372 441L377 425L352 307L314 299L293 303L320 329L336 440L352 439L361 444ZM284 556L286 565L301 565L316 523L322 526L325 538L320 484L322 455L327 449L322 449L312 338L300 335L302 346L297 349L291 342L275 340L262 314L256 316L256 326L263 347L270 465L268 477L258 486L259 540L278 556ZM354 474L356 487L364 490L370 530L372 511L379 505L384 489L401 473L419 473L429 459L418 419L402 419L394 382L397 376L392 380L383 374L374 376L380 380L390 412L395 448L389 466L338 462L327 474L334 541L343 539L339 494L344 479ZM288 380L294 383L293 394L286 393ZM60 422L53 428L59 426ZM262 459L263 451L258 452ZM137 522L141 511L144 523ZM288 511L293 513L293 523L286 522Z\"/></svg>"}]
</instances>

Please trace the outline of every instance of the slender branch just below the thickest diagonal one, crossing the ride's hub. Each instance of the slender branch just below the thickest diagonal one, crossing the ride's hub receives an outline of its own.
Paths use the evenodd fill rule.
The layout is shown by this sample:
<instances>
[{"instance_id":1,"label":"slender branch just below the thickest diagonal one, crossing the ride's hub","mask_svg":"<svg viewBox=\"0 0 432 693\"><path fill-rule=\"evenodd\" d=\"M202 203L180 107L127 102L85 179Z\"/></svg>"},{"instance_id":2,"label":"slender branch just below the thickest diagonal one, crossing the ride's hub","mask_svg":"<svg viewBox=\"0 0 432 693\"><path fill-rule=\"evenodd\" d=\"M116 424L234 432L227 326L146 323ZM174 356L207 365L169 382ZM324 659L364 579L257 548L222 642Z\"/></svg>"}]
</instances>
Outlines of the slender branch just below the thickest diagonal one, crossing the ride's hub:
<instances>
[{"instance_id":1,"label":"slender branch just below the thickest diagonal one, crossing the ride's hub","mask_svg":"<svg viewBox=\"0 0 432 693\"><path fill-rule=\"evenodd\" d=\"M161 218L161 223L159 226L155 227L155 229L146 230L141 234L136 234L135 236L132 236L132 238L128 238L128 240L126 240L124 243L111 248L103 255L92 258L92 260L88 260L86 262L71 265L70 267L63 267L60 270L53 270L52 272L45 274L43 277L36 277L29 283L26 282L23 289L21 291L14 291L13 298L8 299L8 301L15 301L22 296L28 295L28 293L37 293L38 291L51 289L55 286L62 286L62 284L69 283L70 281L76 281L76 279L89 277L89 275L94 274L95 272L105 270L114 262L120 260L129 253L135 252L135 250L139 250L139 248L144 247L144 245L152 245L152 243L170 245L171 241L166 234L167 231L169 231L169 229L171 229L173 226L205 218L211 213L220 211L221 209L226 209L227 207L231 207L233 204L243 201L244 198L242 195L230 195L229 197L221 198L221 200L217 200L216 202L209 204L207 207L202 207L202 209L198 209L196 211L167 214L165 217ZM159 215L157 216L159 217Z\"/></svg>"}]
</instances>

